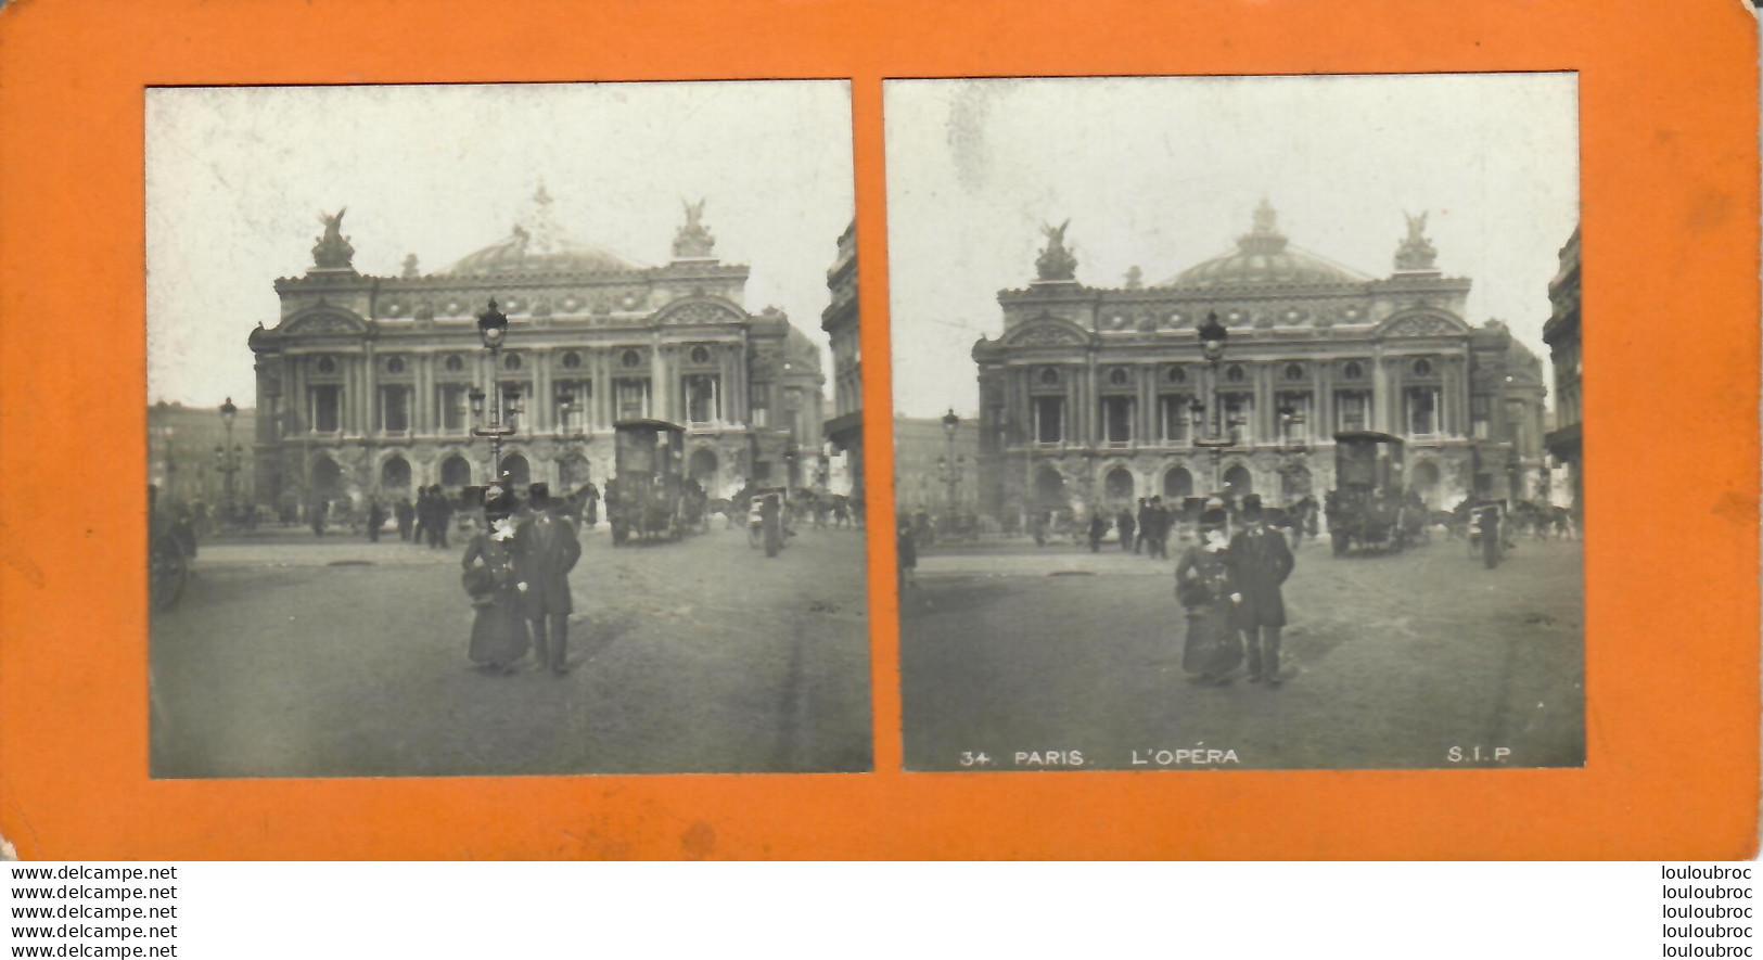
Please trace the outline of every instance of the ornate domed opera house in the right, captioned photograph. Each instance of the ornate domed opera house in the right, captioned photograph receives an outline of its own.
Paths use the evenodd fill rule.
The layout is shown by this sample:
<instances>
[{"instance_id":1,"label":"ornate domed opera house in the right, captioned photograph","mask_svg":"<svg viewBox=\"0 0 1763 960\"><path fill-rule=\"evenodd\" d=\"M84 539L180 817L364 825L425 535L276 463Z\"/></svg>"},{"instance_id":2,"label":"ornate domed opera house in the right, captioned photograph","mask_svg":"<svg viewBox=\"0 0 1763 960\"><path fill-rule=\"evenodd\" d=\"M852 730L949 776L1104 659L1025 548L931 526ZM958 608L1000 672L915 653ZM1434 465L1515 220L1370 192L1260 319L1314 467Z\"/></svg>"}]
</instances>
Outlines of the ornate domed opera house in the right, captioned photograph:
<instances>
[{"instance_id":1,"label":"ornate domed opera house in the right, captioned photograph","mask_svg":"<svg viewBox=\"0 0 1763 960\"><path fill-rule=\"evenodd\" d=\"M1003 335L973 345L980 511L1320 495L1338 430L1402 435L1407 481L1435 507L1518 495L1541 456L1541 365L1504 324L1465 321L1470 280L1432 268L1423 227L1409 218L1384 278L1294 247L1266 201L1234 250L1157 285L1086 287L1037 262L1042 280L998 294ZM1211 314L1229 328L1216 366L1195 335ZM1190 419L1213 396L1241 421L1216 458Z\"/></svg>"}]
</instances>

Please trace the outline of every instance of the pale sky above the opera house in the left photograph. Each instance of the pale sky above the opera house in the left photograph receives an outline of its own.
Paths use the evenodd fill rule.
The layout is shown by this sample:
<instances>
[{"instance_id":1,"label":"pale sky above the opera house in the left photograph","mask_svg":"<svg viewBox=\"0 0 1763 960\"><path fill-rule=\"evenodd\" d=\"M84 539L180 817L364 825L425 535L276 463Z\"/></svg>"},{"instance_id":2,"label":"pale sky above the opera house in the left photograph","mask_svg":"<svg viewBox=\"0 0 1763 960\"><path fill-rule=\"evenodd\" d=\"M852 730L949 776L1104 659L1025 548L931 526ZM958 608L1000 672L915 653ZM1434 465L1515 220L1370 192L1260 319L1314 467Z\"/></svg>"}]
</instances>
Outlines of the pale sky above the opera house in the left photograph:
<instances>
[{"instance_id":1,"label":"pale sky above the opera house in the left photograph","mask_svg":"<svg viewBox=\"0 0 1763 960\"><path fill-rule=\"evenodd\" d=\"M312 264L321 211L347 206L358 271L427 273L506 238L539 185L575 238L649 266L707 201L748 308L825 347L850 109L843 81L148 90L148 402L256 402L245 338Z\"/></svg>"}]
</instances>

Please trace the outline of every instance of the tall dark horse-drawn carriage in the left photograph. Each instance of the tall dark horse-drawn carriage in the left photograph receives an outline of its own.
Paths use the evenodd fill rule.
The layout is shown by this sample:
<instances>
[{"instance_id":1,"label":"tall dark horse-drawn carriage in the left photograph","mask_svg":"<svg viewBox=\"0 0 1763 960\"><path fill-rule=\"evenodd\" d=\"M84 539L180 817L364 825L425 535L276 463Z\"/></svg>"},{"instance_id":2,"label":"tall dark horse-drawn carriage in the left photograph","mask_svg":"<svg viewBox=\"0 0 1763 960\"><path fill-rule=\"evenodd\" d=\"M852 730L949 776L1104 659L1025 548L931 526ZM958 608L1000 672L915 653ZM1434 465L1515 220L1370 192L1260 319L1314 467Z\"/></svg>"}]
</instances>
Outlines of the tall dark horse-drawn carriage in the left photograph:
<instances>
[{"instance_id":1,"label":"tall dark horse-drawn carriage in the left photograph","mask_svg":"<svg viewBox=\"0 0 1763 960\"><path fill-rule=\"evenodd\" d=\"M686 428L661 419L621 419L614 430L614 472L606 481L612 544L677 541L686 532Z\"/></svg>"}]
</instances>

